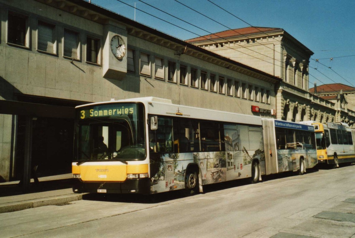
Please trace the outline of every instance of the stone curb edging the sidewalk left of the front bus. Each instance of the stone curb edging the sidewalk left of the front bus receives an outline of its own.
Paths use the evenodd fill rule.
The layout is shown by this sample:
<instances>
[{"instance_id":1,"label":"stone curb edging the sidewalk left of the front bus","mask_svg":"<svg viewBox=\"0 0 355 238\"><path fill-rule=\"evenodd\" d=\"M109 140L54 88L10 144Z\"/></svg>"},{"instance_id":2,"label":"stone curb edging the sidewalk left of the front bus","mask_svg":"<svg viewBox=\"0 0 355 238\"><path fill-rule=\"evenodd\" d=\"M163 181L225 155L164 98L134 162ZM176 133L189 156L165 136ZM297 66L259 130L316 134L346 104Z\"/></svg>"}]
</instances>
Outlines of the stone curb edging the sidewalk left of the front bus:
<instances>
[{"instance_id":1,"label":"stone curb edging the sidewalk left of the front bus","mask_svg":"<svg viewBox=\"0 0 355 238\"><path fill-rule=\"evenodd\" d=\"M41 198L41 199L35 199L31 201L13 202L9 204L0 205L0 213L20 211L20 210L34 208L34 207L59 205L59 204L64 204L66 202L82 200L82 198L83 198L83 194L68 194L68 195L55 196L52 198Z\"/></svg>"}]
</instances>

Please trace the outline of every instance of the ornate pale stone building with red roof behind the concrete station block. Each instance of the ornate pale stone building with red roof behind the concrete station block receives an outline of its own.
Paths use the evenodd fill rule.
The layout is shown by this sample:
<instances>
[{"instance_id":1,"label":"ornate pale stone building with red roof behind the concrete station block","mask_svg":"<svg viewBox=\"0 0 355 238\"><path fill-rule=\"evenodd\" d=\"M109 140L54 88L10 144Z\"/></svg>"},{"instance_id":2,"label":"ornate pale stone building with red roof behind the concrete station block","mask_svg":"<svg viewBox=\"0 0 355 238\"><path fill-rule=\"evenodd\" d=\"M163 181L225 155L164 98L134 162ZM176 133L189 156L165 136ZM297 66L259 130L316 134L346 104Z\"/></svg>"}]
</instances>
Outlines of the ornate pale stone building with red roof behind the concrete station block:
<instances>
[{"instance_id":1,"label":"ornate pale stone building with red roof behind the concrete station block","mask_svg":"<svg viewBox=\"0 0 355 238\"><path fill-rule=\"evenodd\" d=\"M346 106L344 97L333 99L308 91L308 64L313 52L284 29L229 29L186 42L282 79L275 84L277 119L346 122L353 126L355 112Z\"/></svg>"}]
</instances>

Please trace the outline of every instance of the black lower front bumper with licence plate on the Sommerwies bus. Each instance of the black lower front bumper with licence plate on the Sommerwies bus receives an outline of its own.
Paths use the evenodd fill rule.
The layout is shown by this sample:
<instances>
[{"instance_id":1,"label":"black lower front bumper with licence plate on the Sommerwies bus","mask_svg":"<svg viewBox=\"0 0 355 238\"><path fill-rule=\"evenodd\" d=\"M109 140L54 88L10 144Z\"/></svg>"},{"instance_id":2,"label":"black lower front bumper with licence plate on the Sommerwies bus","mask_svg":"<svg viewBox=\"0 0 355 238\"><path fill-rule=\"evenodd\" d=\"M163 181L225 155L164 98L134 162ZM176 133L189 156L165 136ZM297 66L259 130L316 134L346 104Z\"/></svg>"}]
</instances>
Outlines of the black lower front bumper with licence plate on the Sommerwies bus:
<instances>
[{"instance_id":1,"label":"black lower front bumper with licence plate on the Sommerwies bus","mask_svg":"<svg viewBox=\"0 0 355 238\"><path fill-rule=\"evenodd\" d=\"M124 182L83 182L73 179L74 193L150 194L150 179L126 179Z\"/></svg>"}]
</instances>

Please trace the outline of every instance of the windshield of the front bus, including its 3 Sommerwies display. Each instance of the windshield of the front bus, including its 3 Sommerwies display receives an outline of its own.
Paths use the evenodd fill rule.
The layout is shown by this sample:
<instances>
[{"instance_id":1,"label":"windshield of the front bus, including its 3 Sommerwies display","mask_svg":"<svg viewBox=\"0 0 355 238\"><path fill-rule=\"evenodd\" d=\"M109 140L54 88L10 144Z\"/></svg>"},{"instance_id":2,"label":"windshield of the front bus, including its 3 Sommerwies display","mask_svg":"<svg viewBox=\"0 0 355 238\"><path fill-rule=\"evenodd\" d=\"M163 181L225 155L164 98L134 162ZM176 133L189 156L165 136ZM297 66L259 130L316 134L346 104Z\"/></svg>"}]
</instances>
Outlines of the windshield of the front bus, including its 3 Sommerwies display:
<instances>
[{"instance_id":1,"label":"windshield of the front bus, including its 3 Sommerwies display","mask_svg":"<svg viewBox=\"0 0 355 238\"><path fill-rule=\"evenodd\" d=\"M146 158L143 104L97 104L76 113L76 161Z\"/></svg>"}]
</instances>

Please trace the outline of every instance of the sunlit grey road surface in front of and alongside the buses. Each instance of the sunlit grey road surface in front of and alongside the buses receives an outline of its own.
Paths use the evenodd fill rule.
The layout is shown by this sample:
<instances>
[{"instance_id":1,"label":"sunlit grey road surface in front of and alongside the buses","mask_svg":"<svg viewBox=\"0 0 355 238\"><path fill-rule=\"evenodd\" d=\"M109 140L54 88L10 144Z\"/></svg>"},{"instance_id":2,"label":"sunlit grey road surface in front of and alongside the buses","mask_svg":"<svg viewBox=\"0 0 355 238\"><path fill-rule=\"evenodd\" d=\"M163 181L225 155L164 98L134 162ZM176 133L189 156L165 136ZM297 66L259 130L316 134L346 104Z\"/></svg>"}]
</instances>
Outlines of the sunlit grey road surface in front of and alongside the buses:
<instances>
[{"instance_id":1,"label":"sunlit grey road surface in front of and alongside the buses","mask_svg":"<svg viewBox=\"0 0 355 238\"><path fill-rule=\"evenodd\" d=\"M210 185L204 194L87 195L0 214L0 237L355 237L355 166Z\"/></svg>"}]
</instances>

